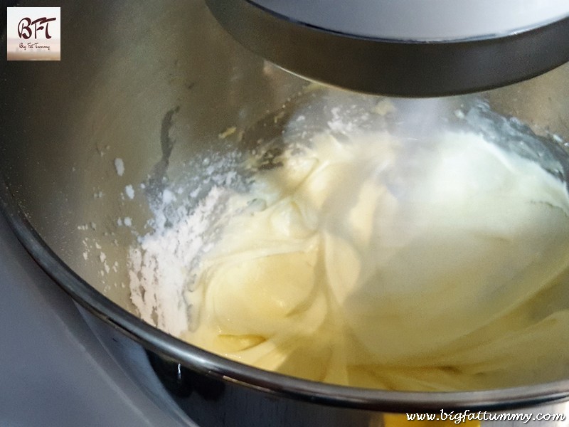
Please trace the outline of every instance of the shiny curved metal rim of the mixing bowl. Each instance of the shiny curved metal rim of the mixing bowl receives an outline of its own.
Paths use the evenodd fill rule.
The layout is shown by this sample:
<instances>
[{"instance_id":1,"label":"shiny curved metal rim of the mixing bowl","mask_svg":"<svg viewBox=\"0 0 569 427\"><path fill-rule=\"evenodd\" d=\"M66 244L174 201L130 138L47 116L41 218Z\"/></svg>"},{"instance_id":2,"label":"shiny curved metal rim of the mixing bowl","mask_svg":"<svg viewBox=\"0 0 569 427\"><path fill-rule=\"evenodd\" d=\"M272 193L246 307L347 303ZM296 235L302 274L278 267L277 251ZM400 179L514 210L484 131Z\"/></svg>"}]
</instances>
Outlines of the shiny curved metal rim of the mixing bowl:
<instances>
[{"instance_id":1,"label":"shiny curved metal rim of the mixing bowl","mask_svg":"<svg viewBox=\"0 0 569 427\"><path fill-rule=\"evenodd\" d=\"M324 384L225 359L147 324L80 278L33 228L11 192L4 172L0 180L0 212L33 260L75 302L143 347L174 359L199 374L240 384L272 396L326 406L395 413L432 413L442 409L499 411L569 399L569 379L477 391L388 391Z\"/></svg>"}]
</instances>

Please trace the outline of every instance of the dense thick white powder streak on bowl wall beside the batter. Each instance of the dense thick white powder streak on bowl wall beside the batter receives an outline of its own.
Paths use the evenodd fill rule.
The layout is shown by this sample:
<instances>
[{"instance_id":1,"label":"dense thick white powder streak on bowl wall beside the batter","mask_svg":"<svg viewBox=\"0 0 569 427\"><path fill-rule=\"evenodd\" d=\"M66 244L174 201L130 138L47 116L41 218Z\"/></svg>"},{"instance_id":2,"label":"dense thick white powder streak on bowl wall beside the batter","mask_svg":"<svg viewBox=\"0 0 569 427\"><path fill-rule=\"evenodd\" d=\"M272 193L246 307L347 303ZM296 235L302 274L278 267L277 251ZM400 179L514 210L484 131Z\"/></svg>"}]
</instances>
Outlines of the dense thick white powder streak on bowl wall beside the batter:
<instances>
[{"instance_id":1,"label":"dense thick white powder streak on bowl wall beside the batter","mask_svg":"<svg viewBox=\"0 0 569 427\"><path fill-rule=\"evenodd\" d=\"M183 210L171 218L169 226L161 221L169 208L169 203L163 202L154 210L154 232L139 238L139 246L129 250L132 303L144 321L174 336L191 326L191 307L184 297L191 288L188 278L192 277L192 265L208 251L204 235L215 221L212 211L227 191L213 187L189 214ZM172 201L169 194L163 200Z\"/></svg>"}]
</instances>

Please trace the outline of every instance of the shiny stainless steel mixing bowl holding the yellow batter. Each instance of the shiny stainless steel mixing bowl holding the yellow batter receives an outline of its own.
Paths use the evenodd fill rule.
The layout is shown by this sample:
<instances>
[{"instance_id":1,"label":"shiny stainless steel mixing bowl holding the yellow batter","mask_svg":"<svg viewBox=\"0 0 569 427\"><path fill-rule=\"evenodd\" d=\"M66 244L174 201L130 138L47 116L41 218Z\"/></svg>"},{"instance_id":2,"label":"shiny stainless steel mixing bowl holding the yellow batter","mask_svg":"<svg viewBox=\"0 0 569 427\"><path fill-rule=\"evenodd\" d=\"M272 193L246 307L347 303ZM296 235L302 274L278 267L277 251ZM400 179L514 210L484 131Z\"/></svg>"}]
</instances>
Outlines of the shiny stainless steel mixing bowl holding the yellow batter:
<instances>
[{"instance_id":1,"label":"shiny stainless steel mixing bowl holding the yellow batter","mask_svg":"<svg viewBox=\"0 0 569 427\"><path fill-rule=\"evenodd\" d=\"M196 155L223 154L238 144L219 137L229 127L250 130L250 140L277 135L259 123L266 127L307 82L245 51L200 0L59 4L60 62L0 65L1 206L33 258L161 407L203 426L368 426L381 423L381 411L498 410L569 397L569 379L457 393L317 384L230 362L139 320L128 289L110 285L125 282L135 238L117 218L131 217L143 232L151 216L142 192L132 201L118 196L124 186L159 187L187 174ZM569 65L452 102L471 98L569 141ZM567 179L567 148L552 149L565 150ZM100 261L84 259L88 239L117 260L112 278L100 275Z\"/></svg>"}]
</instances>

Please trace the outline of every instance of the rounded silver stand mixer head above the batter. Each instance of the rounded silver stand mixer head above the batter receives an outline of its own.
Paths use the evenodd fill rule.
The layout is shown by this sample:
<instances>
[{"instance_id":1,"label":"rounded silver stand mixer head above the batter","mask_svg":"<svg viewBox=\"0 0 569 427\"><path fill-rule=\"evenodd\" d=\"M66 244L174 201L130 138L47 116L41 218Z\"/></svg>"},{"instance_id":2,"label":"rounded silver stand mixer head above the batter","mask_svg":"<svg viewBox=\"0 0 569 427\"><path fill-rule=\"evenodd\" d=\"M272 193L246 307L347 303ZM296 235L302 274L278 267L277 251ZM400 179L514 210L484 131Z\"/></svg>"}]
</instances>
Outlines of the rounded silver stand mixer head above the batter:
<instances>
[{"instance_id":1,"label":"rounded silver stand mixer head above the batter","mask_svg":"<svg viewBox=\"0 0 569 427\"><path fill-rule=\"evenodd\" d=\"M272 63L366 93L472 93L569 60L565 0L206 2L235 39Z\"/></svg>"}]
</instances>

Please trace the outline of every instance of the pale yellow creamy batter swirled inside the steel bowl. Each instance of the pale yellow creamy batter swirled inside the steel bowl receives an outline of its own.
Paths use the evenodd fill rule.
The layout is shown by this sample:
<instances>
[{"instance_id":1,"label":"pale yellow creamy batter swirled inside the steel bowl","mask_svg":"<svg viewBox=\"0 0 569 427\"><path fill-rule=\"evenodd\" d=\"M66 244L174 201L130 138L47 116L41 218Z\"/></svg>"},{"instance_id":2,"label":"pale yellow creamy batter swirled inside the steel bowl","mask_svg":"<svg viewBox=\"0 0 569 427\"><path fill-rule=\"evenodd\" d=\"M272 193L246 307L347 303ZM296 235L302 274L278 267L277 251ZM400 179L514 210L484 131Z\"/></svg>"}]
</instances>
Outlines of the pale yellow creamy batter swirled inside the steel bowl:
<instances>
[{"instance_id":1,"label":"pale yellow creamy batter swirled inside the steel bowl","mask_svg":"<svg viewBox=\"0 0 569 427\"><path fill-rule=\"evenodd\" d=\"M189 342L398 390L569 376L569 195L482 137L323 133L258 172L203 258Z\"/></svg>"}]
</instances>

